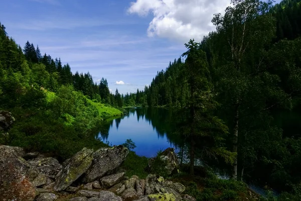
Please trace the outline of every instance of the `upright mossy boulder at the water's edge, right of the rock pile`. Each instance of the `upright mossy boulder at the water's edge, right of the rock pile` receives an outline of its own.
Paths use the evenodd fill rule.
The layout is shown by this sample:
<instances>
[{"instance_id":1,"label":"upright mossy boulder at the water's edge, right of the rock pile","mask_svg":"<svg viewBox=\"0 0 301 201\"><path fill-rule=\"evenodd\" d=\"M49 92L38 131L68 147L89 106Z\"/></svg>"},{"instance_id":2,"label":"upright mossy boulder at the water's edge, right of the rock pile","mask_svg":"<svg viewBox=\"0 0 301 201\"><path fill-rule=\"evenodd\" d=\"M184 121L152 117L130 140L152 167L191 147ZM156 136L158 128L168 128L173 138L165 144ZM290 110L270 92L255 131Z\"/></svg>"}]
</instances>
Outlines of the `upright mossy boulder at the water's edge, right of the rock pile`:
<instances>
[{"instance_id":1,"label":"upright mossy boulder at the water's edge, right of the rock pile","mask_svg":"<svg viewBox=\"0 0 301 201\"><path fill-rule=\"evenodd\" d=\"M160 157L160 160L162 160L163 162L166 163L165 169L166 169L166 173L168 175L178 172L179 160L178 160L177 155L175 154L174 148L167 148L165 151L163 151L160 154L160 156L157 156L157 157ZM153 172L154 171L153 169L156 168L156 167L154 167L154 162L157 159L157 157L151 158L148 161L148 165L147 165L146 169L149 172Z\"/></svg>"}]
</instances>

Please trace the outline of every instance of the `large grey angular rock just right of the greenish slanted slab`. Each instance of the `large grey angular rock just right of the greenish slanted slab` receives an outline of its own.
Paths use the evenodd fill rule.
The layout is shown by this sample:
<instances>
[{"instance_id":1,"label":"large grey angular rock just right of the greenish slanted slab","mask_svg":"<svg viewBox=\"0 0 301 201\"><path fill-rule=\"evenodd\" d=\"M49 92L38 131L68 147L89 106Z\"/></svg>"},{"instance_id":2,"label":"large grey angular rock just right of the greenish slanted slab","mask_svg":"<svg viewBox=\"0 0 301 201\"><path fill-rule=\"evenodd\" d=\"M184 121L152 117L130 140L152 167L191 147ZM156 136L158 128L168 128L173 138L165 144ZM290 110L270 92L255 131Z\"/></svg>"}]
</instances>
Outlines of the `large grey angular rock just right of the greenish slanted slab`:
<instances>
[{"instance_id":1,"label":"large grey angular rock just right of the greenish slanted slab","mask_svg":"<svg viewBox=\"0 0 301 201\"><path fill-rule=\"evenodd\" d=\"M93 163L85 173L83 182L95 181L106 174L113 173L125 160L128 149L119 145L111 148L100 148L93 154Z\"/></svg>"}]
</instances>

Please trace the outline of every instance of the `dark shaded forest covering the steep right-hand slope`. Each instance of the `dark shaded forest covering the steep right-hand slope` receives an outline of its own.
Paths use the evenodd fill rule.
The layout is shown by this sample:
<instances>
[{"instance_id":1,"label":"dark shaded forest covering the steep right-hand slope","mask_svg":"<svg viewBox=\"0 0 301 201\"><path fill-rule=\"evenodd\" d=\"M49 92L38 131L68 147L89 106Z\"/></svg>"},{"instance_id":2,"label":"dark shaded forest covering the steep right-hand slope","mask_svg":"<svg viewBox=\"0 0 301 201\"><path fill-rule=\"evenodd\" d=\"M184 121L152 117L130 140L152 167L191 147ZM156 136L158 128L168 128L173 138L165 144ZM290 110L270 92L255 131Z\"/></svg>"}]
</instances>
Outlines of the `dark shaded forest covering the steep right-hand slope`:
<instances>
[{"instance_id":1,"label":"dark shaded forest covering the steep right-hand slope","mask_svg":"<svg viewBox=\"0 0 301 201\"><path fill-rule=\"evenodd\" d=\"M186 129L182 131L188 140L194 139L189 143L190 151L196 139L204 138L202 129L216 133L212 125L218 124L208 120L215 114L229 129L228 136L216 137L229 142L228 150L237 154L231 161L232 178L257 180L295 194L301 191L301 174L297 171L301 165L301 141L298 136L284 135L273 121L273 114L300 108L300 12L298 0L283 1L275 6L269 1L232 1L225 15L214 16L216 31L199 44L191 41L187 47L194 53L185 54L184 62L180 58L170 63L142 92L148 106L170 106L179 111L186 108L195 112L186 115L183 112L186 117L181 120L189 120L187 123L191 124L184 125ZM203 53L206 61L201 56ZM192 67L206 69L206 62L208 72L205 74ZM187 69L194 69L195 73L189 74ZM191 81L193 77L199 81ZM201 82L203 84L197 86ZM209 104L211 98L216 104ZM210 115L201 118L204 107L211 107L215 112L209 111ZM195 125L194 119L199 124L207 123L198 128L200 125Z\"/></svg>"}]
</instances>

